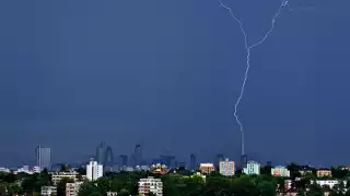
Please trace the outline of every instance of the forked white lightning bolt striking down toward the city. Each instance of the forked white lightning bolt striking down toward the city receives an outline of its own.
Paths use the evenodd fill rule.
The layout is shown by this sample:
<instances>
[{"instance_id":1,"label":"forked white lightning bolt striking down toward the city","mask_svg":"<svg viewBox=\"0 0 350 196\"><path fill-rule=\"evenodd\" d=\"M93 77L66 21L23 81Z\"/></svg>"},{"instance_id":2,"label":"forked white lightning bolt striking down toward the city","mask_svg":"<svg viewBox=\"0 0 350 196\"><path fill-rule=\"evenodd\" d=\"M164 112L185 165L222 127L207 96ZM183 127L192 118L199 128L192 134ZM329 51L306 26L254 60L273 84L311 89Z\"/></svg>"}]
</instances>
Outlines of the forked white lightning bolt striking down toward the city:
<instances>
[{"instance_id":1,"label":"forked white lightning bolt striking down toward the city","mask_svg":"<svg viewBox=\"0 0 350 196\"><path fill-rule=\"evenodd\" d=\"M264 35L264 37L258 40L257 42L253 44L253 45L249 45L248 44L248 36L247 34L245 33L245 29L243 27L243 23L242 21L233 13L232 9L228 5L225 5L222 0L219 0L220 2L220 5L224 9L226 9L231 16L240 24L240 27L241 27L241 32L244 36L244 45L245 45L245 50L246 50L246 70L245 70L245 74L244 74L244 79L243 79L243 83L242 83L242 86L241 86L241 93L240 93L240 97L236 101L236 103L234 105L234 112L233 112L233 115L235 117L236 119L236 122L237 124L240 125L240 130L241 130L241 139L242 139L242 156L245 156L245 146L244 146L244 130L243 130L243 124L242 122L240 121L240 118L238 118L238 114L237 114L237 108L241 103L241 100L243 98L243 95L244 95L244 89L245 89L245 85L246 85L246 82L247 82L247 78L248 78L248 73L249 73L249 69L250 69L250 50L254 49L255 47L261 45L268 37L269 35L273 32L275 29L275 23L276 23L276 19L280 15L281 13L281 10L284 8L284 7L289 7L288 4L288 1L287 0L282 0L277 13L273 15L272 20L271 20L271 28Z\"/></svg>"}]
</instances>

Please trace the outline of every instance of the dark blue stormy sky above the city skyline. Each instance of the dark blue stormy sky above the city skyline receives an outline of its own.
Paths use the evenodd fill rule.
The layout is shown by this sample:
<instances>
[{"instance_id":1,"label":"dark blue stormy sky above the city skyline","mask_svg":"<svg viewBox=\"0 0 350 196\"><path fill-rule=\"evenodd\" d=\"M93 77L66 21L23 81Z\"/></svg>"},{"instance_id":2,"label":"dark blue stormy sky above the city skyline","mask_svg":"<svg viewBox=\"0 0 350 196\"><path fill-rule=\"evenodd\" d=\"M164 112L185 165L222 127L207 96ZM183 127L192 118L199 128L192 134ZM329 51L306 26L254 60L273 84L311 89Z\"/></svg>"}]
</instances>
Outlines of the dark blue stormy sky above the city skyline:
<instances>
[{"instance_id":1,"label":"dark blue stormy sky above the city skyline","mask_svg":"<svg viewBox=\"0 0 350 196\"><path fill-rule=\"evenodd\" d=\"M279 0L225 0L256 42ZM240 115L261 161L350 163L350 2L291 0L252 51ZM302 11L311 5L315 10ZM0 1L1 164L116 155L238 158L245 71L238 24L217 0Z\"/></svg>"}]
</instances>

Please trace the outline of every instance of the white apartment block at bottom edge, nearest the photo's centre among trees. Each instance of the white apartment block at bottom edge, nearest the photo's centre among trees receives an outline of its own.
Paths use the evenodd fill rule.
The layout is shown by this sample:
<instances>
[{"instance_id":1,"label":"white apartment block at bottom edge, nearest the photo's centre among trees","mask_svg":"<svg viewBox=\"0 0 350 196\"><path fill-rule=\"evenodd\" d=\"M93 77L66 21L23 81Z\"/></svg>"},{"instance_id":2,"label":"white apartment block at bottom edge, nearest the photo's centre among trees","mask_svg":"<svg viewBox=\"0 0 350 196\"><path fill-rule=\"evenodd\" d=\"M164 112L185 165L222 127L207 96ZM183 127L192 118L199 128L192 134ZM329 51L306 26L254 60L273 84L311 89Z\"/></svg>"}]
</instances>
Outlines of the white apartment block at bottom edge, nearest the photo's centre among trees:
<instances>
[{"instance_id":1,"label":"white apartment block at bottom edge, nearest the photo's centre among trees","mask_svg":"<svg viewBox=\"0 0 350 196\"><path fill-rule=\"evenodd\" d=\"M153 193L155 196L163 196L163 183L160 179L149 176L139 181L139 196L147 196Z\"/></svg>"}]
</instances>

